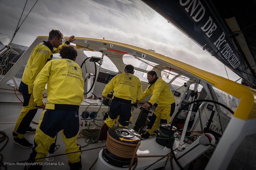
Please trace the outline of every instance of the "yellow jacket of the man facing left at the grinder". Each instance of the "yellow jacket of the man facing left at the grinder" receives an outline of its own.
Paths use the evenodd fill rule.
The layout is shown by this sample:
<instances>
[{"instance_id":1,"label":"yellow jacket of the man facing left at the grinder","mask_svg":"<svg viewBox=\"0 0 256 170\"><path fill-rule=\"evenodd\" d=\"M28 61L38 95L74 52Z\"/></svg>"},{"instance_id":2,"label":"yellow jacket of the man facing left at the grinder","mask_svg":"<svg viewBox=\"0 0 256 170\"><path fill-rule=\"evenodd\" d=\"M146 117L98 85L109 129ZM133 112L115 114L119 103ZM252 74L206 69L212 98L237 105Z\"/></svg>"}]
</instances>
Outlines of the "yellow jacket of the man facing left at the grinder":
<instances>
[{"instance_id":1,"label":"yellow jacket of the man facing left at the grinder","mask_svg":"<svg viewBox=\"0 0 256 170\"><path fill-rule=\"evenodd\" d=\"M149 94L152 94L152 96L148 102L152 105L157 102L158 107L171 105L175 102L169 85L162 78L157 78L156 82L153 84L149 83L140 101L145 99Z\"/></svg>"}]
</instances>

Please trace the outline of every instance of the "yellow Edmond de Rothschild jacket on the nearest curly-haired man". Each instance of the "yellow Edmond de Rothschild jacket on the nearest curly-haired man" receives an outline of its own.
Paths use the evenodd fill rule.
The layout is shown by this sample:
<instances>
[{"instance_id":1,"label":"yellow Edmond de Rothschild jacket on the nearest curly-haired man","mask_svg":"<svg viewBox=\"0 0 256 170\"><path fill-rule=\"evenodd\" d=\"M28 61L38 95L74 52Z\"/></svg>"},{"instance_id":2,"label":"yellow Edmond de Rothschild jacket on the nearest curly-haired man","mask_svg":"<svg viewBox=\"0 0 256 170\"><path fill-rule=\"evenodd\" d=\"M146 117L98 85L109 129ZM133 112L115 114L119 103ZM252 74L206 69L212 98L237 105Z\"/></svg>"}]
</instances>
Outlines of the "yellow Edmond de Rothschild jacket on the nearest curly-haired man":
<instances>
[{"instance_id":1,"label":"yellow Edmond de Rothschild jacket on the nearest curly-haired man","mask_svg":"<svg viewBox=\"0 0 256 170\"><path fill-rule=\"evenodd\" d=\"M82 70L73 60L63 58L46 63L34 82L33 95L37 106L43 104L46 82L45 109L54 109L54 104L80 105L84 99Z\"/></svg>"}]
</instances>

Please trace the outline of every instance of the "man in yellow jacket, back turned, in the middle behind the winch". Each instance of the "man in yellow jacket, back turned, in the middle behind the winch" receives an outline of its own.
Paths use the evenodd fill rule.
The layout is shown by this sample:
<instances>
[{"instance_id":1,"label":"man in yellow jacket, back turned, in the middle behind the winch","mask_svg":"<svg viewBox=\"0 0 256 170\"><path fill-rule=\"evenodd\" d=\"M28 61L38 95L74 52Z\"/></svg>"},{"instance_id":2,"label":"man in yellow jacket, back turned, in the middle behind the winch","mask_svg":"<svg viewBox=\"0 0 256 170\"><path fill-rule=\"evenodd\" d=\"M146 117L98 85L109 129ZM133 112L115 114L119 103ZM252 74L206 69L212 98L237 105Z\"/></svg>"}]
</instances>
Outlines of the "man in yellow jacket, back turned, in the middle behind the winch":
<instances>
[{"instance_id":1,"label":"man in yellow jacket, back turned, in the middle behind the winch","mask_svg":"<svg viewBox=\"0 0 256 170\"><path fill-rule=\"evenodd\" d=\"M132 104L136 103L142 95L140 79L134 74L134 67L128 64L124 73L116 75L105 86L102 97L105 98L111 90L114 91L112 101L109 105L108 118L102 126L99 135L99 142L107 139L107 131L116 122L119 126L128 127L132 121Z\"/></svg>"}]
</instances>

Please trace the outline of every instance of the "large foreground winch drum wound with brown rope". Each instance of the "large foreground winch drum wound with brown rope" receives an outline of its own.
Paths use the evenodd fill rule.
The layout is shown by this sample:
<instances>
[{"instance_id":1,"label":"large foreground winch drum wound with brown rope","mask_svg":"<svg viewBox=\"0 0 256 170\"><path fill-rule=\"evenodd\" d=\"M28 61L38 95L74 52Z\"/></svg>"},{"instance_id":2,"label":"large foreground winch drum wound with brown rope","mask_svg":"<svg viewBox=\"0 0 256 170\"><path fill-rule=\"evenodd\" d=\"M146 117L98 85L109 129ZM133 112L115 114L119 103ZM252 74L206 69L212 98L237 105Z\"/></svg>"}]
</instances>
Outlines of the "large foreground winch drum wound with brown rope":
<instances>
[{"instance_id":1,"label":"large foreground winch drum wound with brown rope","mask_svg":"<svg viewBox=\"0 0 256 170\"><path fill-rule=\"evenodd\" d=\"M104 167L104 164L110 164L117 169L129 167L131 161L132 166L136 164L137 158L132 157L136 155L137 149L140 145L140 135L128 128L113 127L108 130L108 138L106 146L99 154L97 168ZM100 161L103 160L104 161ZM106 166L103 168L105 169ZM99 168L100 169L100 168Z\"/></svg>"}]
</instances>

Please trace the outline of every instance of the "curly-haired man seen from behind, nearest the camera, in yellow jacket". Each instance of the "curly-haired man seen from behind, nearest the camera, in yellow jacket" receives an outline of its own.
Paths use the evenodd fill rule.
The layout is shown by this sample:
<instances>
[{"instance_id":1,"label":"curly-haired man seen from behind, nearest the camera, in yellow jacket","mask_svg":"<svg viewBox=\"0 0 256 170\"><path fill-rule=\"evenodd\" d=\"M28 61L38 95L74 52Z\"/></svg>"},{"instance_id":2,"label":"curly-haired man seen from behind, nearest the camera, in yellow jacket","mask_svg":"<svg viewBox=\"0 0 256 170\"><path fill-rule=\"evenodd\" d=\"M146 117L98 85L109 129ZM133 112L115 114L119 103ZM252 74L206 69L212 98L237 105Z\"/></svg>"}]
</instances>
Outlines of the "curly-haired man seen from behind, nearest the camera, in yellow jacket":
<instances>
[{"instance_id":1,"label":"curly-haired man seen from behind, nearest the camera, in yellow jacket","mask_svg":"<svg viewBox=\"0 0 256 170\"><path fill-rule=\"evenodd\" d=\"M50 145L61 131L66 144L68 165L71 170L82 168L80 145L76 139L79 130L79 106L84 99L84 80L82 70L75 63L77 51L71 45L60 49L61 59L51 60L37 75L33 95L36 106L45 108L36 128L35 146L29 159L46 157ZM43 103L43 92L47 85L47 101ZM37 159L36 162L44 162ZM27 169L41 169L42 166L30 166Z\"/></svg>"}]
</instances>

